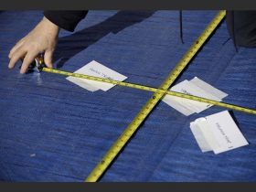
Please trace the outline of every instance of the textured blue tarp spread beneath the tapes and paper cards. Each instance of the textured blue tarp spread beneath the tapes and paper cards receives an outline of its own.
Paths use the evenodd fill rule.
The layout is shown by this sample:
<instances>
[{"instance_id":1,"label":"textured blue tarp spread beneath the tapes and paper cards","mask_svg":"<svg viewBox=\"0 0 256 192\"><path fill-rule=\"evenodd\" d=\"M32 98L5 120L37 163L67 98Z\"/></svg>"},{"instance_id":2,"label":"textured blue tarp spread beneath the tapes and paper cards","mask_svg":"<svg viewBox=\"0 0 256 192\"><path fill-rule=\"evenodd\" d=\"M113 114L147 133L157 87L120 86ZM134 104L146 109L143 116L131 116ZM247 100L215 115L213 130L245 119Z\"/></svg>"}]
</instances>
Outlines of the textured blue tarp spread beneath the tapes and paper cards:
<instances>
[{"instance_id":1,"label":"textured blue tarp spread beneath the tapes and paper cards","mask_svg":"<svg viewBox=\"0 0 256 192\"><path fill-rule=\"evenodd\" d=\"M158 87L217 11L90 11L74 33L61 31L55 63L74 71L92 59ZM124 87L90 92L63 76L20 75L8 51L42 12L0 14L0 180L83 181L152 93ZM236 53L225 22L176 82L197 76L229 94L224 101L256 109L256 50ZM225 43L226 42L226 43ZM20 65L20 63L18 64ZM232 112L249 145L201 153L189 117L160 102L101 178L106 181L255 181L256 117Z\"/></svg>"}]
</instances>

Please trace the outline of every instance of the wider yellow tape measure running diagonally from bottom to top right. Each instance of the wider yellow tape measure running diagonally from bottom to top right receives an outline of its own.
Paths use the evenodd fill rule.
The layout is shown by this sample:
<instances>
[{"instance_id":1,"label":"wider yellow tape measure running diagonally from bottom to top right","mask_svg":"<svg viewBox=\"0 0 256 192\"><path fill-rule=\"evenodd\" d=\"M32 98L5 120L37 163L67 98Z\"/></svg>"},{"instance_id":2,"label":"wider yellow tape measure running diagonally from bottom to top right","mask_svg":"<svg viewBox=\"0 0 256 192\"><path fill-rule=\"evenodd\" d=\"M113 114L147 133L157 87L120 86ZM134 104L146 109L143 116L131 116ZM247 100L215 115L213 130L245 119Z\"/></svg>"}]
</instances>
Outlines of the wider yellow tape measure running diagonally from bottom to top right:
<instances>
[{"instance_id":1,"label":"wider yellow tape measure running diagonally from bottom to top right","mask_svg":"<svg viewBox=\"0 0 256 192\"><path fill-rule=\"evenodd\" d=\"M219 14L215 16L202 35L198 37L196 42L191 46L191 48L188 49L186 55L176 65L176 68L170 72L167 79L160 86L160 90L166 91L171 86L171 84L176 80L177 76L182 72L183 69L185 69L190 59L194 57L197 50L203 45L225 15L225 11L220 11ZM112 147L109 149L107 154L103 156L101 162L92 170L91 174L86 178L86 182L95 182L100 178L107 167L112 163L115 156L119 154L123 146L128 142L133 133L139 128L140 124L143 123L146 116L154 109L156 103L160 101L164 95L165 92L163 91L155 91L154 95L145 103L142 110L135 116L133 122L128 125L117 141L112 144Z\"/></svg>"}]
</instances>

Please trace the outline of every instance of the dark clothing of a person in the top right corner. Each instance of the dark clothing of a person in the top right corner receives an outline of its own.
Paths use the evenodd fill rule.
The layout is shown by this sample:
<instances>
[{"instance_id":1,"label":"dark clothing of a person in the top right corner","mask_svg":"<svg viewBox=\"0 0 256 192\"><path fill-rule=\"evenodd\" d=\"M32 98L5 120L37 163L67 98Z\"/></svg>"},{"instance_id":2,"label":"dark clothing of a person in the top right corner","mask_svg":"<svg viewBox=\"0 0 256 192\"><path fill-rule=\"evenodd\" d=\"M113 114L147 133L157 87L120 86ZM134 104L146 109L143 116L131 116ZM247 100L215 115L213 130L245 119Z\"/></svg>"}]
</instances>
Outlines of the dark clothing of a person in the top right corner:
<instances>
[{"instance_id":1,"label":"dark clothing of a person in the top right corner","mask_svg":"<svg viewBox=\"0 0 256 192\"><path fill-rule=\"evenodd\" d=\"M227 11L229 35L241 47L256 47L256 11Z\"/></svg>"}]
</instances>

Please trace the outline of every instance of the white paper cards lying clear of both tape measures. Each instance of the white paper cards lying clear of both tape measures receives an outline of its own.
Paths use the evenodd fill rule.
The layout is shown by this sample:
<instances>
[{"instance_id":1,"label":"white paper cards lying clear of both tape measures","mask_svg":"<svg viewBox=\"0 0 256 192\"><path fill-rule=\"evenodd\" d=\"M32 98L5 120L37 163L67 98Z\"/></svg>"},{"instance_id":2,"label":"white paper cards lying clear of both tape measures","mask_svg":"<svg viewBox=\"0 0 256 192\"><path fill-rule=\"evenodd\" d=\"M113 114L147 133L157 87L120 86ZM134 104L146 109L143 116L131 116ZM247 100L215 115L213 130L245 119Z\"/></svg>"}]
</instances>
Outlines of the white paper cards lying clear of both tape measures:
<instances>
[{"instance_id":1,"label":"white paper cards lying clear of both tape measures","mask_svg":"<svg viewBox=\"0 0 256 192\"><path fill-rule=\"evenodd\" d=\"M228 111L198 118L190 129L202 152L219 154L248 144Z\"/></svg>"}]
</instances>

